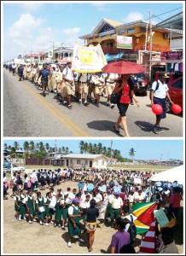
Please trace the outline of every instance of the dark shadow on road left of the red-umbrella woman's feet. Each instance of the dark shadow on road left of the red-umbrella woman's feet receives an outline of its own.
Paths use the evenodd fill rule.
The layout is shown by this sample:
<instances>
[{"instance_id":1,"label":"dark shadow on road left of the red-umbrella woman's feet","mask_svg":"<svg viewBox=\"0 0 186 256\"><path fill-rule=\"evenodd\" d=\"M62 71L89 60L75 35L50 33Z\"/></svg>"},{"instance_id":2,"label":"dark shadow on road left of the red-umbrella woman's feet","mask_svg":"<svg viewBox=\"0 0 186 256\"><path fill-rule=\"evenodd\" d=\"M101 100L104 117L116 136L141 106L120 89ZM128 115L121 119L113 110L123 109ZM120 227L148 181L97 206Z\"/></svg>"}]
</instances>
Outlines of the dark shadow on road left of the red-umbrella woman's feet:
<instances>
[{"instance_id":1,"label":"dark shadow on road left of the red-umbrella woman's feet","mask_svg":"<svg viewBox=\"0 0 186 256\"><path fill-rule=\"evenodd\" d=\"M113 125L114 123L108 120L97 120L97 121L92 121L90 123L87 124L87 126L90 129L93 130L97 130L97 131L113 131L113 133L115 133L114 129L113 129ZM123 137L121 134L117 134L119 137Z\"/></svg>"}]
</instances>

